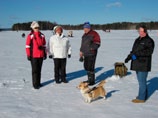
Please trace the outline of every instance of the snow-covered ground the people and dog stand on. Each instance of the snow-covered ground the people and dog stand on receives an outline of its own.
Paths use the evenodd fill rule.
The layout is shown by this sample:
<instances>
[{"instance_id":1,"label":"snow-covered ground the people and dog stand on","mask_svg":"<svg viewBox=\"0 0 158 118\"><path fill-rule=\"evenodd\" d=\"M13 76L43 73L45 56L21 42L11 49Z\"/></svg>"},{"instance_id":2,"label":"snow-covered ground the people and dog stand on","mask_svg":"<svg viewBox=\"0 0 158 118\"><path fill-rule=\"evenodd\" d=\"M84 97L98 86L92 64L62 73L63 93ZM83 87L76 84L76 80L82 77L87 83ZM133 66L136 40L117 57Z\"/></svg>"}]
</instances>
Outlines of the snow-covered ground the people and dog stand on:
<instances>
[{"instance_id":1,"label":"snow-covered ground the people and dog stand on","mask_svg":"<svg viewBox=\"0 0 158 118\"><path fill-rule=\"evenodd\" d=\"M48 41L52 31L42 31ZM70 37L72 57L67 60L68 84L55 84L53 60L47 58L42 67L42 84L32 88L31 65L26 59L25 38L28 31L0 32L0 118L155 118L158 116L158 31L149 31L155 40L152 71L148 75L149 100L131 102L138 93L134 71L123 78L114 76L114 63L123 62L138 33L136 30L97 31L101 47L96 60L96 82L107 80L107 99L85 103L76 86L87 80L83 63L79 62L82 30ZM68 31L64 31L67 35ZM126 64L128 69L130 63Z\"/></svg>"}]
</instances>

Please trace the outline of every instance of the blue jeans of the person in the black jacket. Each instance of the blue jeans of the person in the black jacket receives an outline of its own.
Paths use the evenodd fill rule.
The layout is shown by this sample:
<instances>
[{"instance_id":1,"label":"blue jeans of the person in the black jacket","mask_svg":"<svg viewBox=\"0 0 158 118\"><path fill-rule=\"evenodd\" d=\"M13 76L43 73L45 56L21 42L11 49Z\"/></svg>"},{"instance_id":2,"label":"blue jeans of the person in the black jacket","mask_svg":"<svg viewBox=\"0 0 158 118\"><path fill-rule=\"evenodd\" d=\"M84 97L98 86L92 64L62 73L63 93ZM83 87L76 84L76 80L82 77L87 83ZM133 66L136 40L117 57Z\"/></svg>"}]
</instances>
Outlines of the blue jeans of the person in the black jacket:
<instances>
[{"instance_id":1,"label":"blue jeans of the person in the black jacket","mask_svg":"<svg viewBox=\"0 0 158 118\"><path fill-rule=\"evenodd\" d=\"M137 99L139 100L146 100L147 99L147 76L148 72L140 72L136 71L137 80L139 84L139 92Z\"/></svg>"}]
</instances>

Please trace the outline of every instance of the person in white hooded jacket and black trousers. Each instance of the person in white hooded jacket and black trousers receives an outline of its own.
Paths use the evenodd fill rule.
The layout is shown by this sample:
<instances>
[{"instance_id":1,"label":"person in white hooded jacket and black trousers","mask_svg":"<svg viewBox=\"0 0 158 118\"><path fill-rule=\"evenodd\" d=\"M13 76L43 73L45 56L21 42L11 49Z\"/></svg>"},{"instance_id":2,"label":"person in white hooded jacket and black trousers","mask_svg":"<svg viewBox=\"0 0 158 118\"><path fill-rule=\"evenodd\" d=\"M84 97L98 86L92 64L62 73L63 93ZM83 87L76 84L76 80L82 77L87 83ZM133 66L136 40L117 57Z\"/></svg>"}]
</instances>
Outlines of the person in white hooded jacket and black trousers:
<instances>
[{"instance_id":1,"label":"person in white hooded jacket and black trousers","mask_svg":"<svg viewBox=\"0 0 158 118\"><path fill-rule=\"evenodd\" d=\"M54 35L48 42L49 58L54 60L54 78L57 84L68 83L66 80L66 59L71 58L69 39L63 35L61 26L54 27Z\"/></svg>"}]
</instances>

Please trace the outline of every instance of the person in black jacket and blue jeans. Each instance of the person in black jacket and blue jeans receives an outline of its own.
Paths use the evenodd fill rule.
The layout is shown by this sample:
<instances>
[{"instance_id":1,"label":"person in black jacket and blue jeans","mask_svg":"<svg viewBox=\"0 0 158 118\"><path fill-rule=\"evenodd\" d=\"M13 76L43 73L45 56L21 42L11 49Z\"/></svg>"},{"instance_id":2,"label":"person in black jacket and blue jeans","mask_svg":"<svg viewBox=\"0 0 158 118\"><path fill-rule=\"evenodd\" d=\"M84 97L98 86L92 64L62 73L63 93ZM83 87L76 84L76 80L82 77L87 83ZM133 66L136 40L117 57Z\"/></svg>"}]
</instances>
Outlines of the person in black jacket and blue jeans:
<instances>
[{"instance_id":1,"label":"person in black jacket and blue jeans","mask_svg":"<svg viewBox=\"0 0 158 118\"><path fill-rule=\"evenodd\" d=\"M152 54L154 51L154 40L148 35L146 26L138 29L139 37L135 40L132 51L125 59L125 63L131 61L131 70L136 71L139 83L139 92L133 103L144 103L148 98L147 76L151 71Z\"/></svg>"}]
</instances>

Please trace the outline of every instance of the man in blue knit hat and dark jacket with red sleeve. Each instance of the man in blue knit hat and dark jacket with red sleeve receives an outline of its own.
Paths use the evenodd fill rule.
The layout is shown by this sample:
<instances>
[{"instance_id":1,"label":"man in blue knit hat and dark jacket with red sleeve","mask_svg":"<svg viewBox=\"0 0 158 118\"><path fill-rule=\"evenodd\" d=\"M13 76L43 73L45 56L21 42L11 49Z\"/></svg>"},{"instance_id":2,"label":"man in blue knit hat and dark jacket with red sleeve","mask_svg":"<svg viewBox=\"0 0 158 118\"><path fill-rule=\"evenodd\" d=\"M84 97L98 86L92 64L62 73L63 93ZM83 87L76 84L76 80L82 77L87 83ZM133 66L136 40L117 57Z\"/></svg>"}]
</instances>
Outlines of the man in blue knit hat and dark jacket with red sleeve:
<instances>
[{"instance_id":1,"label":"man in blue knit hat and dark jacket with red sleeve","mask_svg":"<svg viewBox=\"0 0 158 118\"><path fill-rule=\"evenodd\" d=\"M91 29L89 22L84 23L84 34L80 47L80 61L84 61L84 69L87 71L89 85L95 84L95 61L100 47L99 34Z\"/></svg>"}]
</instances>

